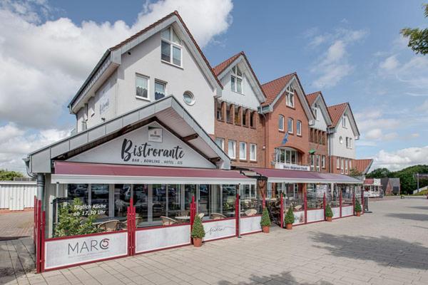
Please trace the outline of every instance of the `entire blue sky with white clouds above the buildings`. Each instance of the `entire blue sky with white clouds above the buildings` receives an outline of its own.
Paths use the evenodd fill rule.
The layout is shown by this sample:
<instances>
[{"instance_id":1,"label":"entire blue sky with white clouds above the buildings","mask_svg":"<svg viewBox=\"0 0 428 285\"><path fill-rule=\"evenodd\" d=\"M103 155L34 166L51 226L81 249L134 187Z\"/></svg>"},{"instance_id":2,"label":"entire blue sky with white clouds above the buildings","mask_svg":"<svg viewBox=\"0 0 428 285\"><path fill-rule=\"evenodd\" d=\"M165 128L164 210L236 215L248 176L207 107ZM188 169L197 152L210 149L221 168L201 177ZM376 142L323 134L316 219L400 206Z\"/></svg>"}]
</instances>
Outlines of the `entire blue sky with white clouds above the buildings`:
<instances>
[{"instance_id":1,"label":"entire blue sky with white clouds above the buildings","mask_svg":"<svg viewBox=\"0 0 428 285\"><path fill-rule=\"evenodd\" d=\"M0 0L0 169L70 134L67 105L110 46L177 10L215 66L245 51L261 83L349 102L372 170L428 164L428 56L400 36L424 1Z\"/></svg>"}]
</instances>

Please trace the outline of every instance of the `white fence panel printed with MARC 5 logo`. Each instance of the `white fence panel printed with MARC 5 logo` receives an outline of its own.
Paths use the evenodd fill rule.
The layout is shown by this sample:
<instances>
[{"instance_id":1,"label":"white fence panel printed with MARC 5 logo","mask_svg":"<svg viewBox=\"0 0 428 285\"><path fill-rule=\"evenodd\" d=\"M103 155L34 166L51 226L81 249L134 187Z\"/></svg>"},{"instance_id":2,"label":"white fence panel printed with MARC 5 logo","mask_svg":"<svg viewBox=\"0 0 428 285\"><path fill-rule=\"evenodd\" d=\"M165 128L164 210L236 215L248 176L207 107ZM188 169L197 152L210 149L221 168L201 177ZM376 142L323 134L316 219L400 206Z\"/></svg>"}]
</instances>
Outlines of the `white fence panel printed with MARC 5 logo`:
<instances>
[{"instance_id":1,"label":"white fence panel printed with MARC 5 logo","mask_svg":"<svg viewBox=\"0 0 428 285\"><path fill-rule=\"evenodd\" d=\"M81 264L128 254L128 233L46 240L45 269Z\"/></svg>"}]
</instances>

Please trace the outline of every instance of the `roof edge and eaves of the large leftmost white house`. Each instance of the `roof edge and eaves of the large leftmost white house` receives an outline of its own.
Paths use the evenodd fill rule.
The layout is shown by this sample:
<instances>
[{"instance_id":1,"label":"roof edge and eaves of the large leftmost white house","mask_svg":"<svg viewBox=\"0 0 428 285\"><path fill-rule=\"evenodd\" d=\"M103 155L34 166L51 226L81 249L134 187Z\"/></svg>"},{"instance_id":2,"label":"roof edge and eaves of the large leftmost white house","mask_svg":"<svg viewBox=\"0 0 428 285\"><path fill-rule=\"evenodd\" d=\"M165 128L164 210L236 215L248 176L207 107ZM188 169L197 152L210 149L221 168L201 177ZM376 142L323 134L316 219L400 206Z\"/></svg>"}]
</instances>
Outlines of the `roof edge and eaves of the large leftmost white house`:
<instances>
[{"instance_id":1,"label":"roof edge and eaves of the large leftmost white house","mask_svg":"<svg viewBox=\"0 0 428 285\"><path fill-rule=\"evenodd\" d=\"M121 43L118 43L116 46L112 46L111 48L108 48L107 51L101 57L100 61L98 61L98 63L96 64L95 68L93 68L93 71L91 71L88 78L86 78L86 81L83 83L83 85L78 90L76 95L74 95L73 99L71 99L70 103L68 104L68 108L70 108L70 109L73 108L74 103L76 103L76 101L78 101L78 99L81 97L81 94L85 93L87 90L89 90L91 88L91 84L93 84L95 81L97 81L98 78L100 78L102 76L102 73L104 71L108 71L108 66L115 65L117 67L118 65L121 64L120 55L122 53L125 53L129 49L140 44L142 41L144 41L144 40L141 40L142 36L144 36L146 33L148 33L149 36L151 36L151 34L149 32L151 30L153 30L153 28L156 28L157 26L164 24L167 21L170 21L171 24L173 22L177 22L178 24L183 26L184 33L187 34L187 36L190 38L190 42L195 47L196 53L200 56L202 61L205 62L206 66L207 66L207 68L202 68L203 71L204 70L206 71L206 76L210 77L212 82L215 82L215 84L217 84L220 89L223 89L223 86L221 85L217 76L215 76L215 73L213 72L213 68L211 68L210 63L208 62L207 58L205 58L202 50L198 46L198 43L196 43L195 38L193 38L188 27L185 25L180 14L178 14L178 11L173 11L172 13L163 17L162 19L151 24L150 26L143 28L143 30L139 31L138 33L134 34L133 36L126 38L126 40L122 41ZM114 54L116 52L119 52L120 55ZM111 63L113 63L113 64L111 64Z\"/></svg>"}]
</instances>

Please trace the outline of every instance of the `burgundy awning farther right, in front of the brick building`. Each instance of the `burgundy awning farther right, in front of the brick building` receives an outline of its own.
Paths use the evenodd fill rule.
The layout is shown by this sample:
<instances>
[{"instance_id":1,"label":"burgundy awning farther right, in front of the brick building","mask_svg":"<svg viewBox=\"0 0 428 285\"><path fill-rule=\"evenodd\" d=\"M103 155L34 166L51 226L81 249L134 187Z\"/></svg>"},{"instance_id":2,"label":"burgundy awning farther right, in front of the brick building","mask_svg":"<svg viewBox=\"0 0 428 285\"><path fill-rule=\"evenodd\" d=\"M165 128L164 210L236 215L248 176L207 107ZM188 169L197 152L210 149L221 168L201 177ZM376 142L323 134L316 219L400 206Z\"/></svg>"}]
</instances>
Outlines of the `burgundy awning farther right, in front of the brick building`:
<instances>
[{"instance_id":1,"label":"burgundy awning farther right, in front of the brick building","mask_svg":"<svg viewBox=\"0 0 428 285\"><path fill-rule=\"evenodd\" d=\"M267 182L273 183L338 183L338 184L362 184L347 175L335 173L321 173L301 170L279 170L272 168L251 168L254 172L267 177Z\"/></svg>"}]
</instances>

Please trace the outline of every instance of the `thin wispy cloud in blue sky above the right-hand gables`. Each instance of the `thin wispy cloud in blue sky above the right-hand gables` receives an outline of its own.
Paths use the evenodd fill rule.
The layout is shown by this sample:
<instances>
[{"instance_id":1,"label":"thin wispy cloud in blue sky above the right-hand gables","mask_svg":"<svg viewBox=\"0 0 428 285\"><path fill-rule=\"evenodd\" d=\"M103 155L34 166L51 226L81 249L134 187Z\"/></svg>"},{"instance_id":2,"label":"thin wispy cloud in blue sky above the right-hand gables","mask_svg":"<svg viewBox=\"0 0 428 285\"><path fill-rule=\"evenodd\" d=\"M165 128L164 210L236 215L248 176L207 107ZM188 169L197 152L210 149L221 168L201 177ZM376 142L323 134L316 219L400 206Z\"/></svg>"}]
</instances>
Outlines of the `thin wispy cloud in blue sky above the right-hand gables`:
<instances>
[{"instance_id":1,"label":"thin wispy cloud in blue sky above the right-hand gables","mask_svg":"<svg viewBox=\"0 0 428 285\"><path fill-rule=\"evenodd\" d=\"M327 50L317 61L311 72L317 74L313 82L315 88L329 88L336 86L342 78L350 75L354 70L348 58L350 57L347 48L357 41L361 41L367 36L365 30L350 30L338 28L335 33L323 35L311 35L312 40L309 46L316 48L322 43L328 43Z\"/></svg>"}]
</instances>

